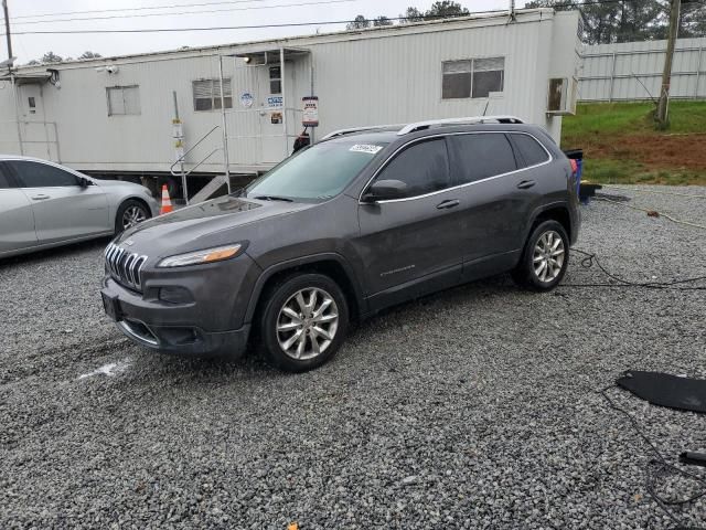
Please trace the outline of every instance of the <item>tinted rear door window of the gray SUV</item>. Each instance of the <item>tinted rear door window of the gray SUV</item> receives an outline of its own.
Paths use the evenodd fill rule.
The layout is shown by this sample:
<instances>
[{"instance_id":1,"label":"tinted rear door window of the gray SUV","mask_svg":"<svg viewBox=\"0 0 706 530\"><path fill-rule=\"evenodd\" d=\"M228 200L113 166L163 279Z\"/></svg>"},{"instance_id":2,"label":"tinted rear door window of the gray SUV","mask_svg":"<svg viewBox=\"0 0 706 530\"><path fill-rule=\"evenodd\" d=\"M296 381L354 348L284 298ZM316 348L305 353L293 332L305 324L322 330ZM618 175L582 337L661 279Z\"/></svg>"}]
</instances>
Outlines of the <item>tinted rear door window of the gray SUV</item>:
<instances>
[{"instance_id":1,"label":"tinted rear door window of the gray SUV","mask_svg":"<svg viewBox=\"0 0 706 530\"><path fill-rule=\"evenodd\" d=\"M477 132L449 137L459 184L509 173L517 169L510 140L503 132Z\"/></svg>"}]
</instances>

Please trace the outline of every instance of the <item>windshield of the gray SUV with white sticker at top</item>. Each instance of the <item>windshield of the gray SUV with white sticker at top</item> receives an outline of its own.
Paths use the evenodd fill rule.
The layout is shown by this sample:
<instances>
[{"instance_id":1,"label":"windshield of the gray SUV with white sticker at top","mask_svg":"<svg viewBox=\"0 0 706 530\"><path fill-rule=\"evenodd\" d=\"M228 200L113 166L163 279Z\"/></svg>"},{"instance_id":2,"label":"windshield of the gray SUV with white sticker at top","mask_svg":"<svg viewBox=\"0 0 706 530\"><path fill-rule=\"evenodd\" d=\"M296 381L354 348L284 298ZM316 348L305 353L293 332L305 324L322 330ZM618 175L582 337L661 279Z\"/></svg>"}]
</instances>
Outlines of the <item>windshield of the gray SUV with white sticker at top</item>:
<instances>
[{"instance_id":1,"label":"windshield of the gray SUV with white sticker at top","mask_svg":"<svg viewBox=\"0 0 706 530\"><path fill-rule=\"evenodd\" d=\"M327 141L290 157L245 189L248 198L319 202L331 199L387 144Z\"/></svg>"}]
</instances>

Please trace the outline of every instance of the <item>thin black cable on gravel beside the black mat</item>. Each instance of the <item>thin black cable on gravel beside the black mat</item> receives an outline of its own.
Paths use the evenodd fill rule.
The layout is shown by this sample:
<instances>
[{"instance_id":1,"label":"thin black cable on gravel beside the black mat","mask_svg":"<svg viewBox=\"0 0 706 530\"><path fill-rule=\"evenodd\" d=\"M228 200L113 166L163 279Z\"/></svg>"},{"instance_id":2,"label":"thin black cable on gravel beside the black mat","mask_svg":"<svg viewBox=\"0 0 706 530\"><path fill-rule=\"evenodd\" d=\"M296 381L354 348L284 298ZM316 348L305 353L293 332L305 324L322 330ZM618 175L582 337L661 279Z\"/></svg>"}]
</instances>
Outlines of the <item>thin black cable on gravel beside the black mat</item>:
<instances>
[{"instance_id":1,"label":"thin black cable on gravel beside the black mat","mask_svg":"<svg viewBox=\"0 0 706 530\"><path fill-rule=\"evenodd\" d=\"M620 412L621 414L623 414L632 424L633 430L640 435L640 437L645 442L645 444L648 444L648 446L650 447L650 449L652 449L652 452L654 453L654 455L656 456L656 458L652 458L648 465L645 466L645 474L648 476L646 479L646 490L648 494L650 494L650 497L652 497L652 499L656 502L656 505L662 509L662 511L664 511L667 517L670 519L672 519L672 521L677 524L677 528L692 528L693 530L706 530L702 527L686 527L686 524L677 517L674 515L674 512L668 508L670 506L683 506L683 505L687 505L689 502L694 502L696 499L699 499L702 497L706 496L706 479L699 477L698 475L687 471L685 469L681 469L678 467L676 467L673 464L670 464L668 462L666 462L666 458L664 458L664 456L662 455L662 453L660 453L660 449L656 448L656 446L652 443L652 441L648 437L646 434L644 434L642 432L642 430L640 428L640 424L638 424L638 421L632 416L632 414L630 414L628 411L625 411L623 407L618 406L616 404L616 402L613 402L610 396L608 395L608 391L611 389L618 388L616 384L611 384L609 386L606 386L603 390L600 391L600 394L603 396L603 399L608 402L608 405L613 409L614 411ZM692 480L696 480L697 483L699 483L700 485L704 486L704 489L691 497L687 497L685 499L665 499L664 497L662 497L660 494L657 494L655 491L654 488L654 483L656 480L656 476L653 475L652 469L659 466L659 468L664 473L671 473L673 475L681 475L683 477L689 478Z\"/></svg>"}]
</instances>

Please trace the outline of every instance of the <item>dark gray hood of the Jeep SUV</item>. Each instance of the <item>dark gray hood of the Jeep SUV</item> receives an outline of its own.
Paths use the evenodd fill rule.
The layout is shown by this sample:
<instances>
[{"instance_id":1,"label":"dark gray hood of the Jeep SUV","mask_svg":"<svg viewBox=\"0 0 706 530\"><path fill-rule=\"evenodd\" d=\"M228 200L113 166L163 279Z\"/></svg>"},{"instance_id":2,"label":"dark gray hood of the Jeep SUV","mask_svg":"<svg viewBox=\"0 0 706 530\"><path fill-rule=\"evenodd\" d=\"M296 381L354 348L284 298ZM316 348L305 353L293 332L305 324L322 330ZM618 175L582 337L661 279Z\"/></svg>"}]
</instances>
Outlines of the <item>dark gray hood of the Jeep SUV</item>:
<instances>
[{"instance_id":1,"label":"dark gray hood of the Jeep SUV","mask_svg":"<svg viewBox=\"0 0 706 530\"><path fill-rule=\"evenodd\" d=\"M240 241L245 225L311 208L313 204L257 201L220 197L150 219L124 232L116 244L128 240L131 252L150 256L173 255ZM132 246L135 245L135 246Z\"/></svg>"}]
</instances>

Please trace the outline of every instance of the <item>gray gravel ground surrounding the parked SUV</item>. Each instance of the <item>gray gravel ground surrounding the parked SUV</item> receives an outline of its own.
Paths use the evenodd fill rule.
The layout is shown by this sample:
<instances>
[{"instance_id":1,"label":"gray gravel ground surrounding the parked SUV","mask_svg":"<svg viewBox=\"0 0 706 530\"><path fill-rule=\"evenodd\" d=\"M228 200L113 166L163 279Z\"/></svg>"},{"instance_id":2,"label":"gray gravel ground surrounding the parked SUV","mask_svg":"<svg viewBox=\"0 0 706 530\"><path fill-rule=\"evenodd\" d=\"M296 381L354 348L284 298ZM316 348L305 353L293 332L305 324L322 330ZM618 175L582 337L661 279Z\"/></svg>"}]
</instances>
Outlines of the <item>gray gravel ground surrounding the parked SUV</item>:
<instances>
[{"instance_id":1,"label":"gray gravel ground surrounding the parked SUV","mask_svg":"<svg viewBox=\"0 0 706 530\"><path fill-rule=\"evenodd\" d=\"M706 224L706 199L610 193ZM577 247L611 272L706 274L706 231L582 211ZM607 278L575 255L553 294L505 277L441 293L286 375L132 346L103 316L105 244L0 263L2 528L674 527L645 489L648 446L597 391L628 369L706 378L705 290L580 287ZM670 462L706 449L704 415L609 394ZM706 526L706 499L675 513Z\"/></svg>"}]
</instances>

